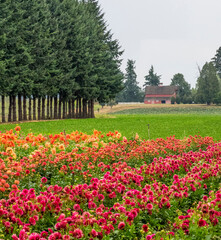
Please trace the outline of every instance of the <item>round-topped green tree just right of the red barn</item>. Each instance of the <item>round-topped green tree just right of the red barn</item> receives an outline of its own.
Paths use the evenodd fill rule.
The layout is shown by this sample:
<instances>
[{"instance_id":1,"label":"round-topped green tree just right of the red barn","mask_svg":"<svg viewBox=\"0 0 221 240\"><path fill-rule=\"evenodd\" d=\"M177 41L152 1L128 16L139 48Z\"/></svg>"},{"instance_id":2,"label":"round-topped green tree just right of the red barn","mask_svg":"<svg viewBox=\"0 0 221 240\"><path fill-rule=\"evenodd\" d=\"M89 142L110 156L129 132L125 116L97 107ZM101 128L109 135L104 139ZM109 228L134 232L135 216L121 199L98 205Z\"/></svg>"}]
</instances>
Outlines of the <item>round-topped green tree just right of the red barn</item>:
<instances>
[{"instance_id":1,"label":"round-topped green tree just right of the red barn","mask_svg":"<svg viewBox=\"0 0 221 240\"><path fill-rule=\"evenodd\" d=\"M191 97L190 84L185 81L183 74L177 73L171 79L171 86L178 86L178 96L182 103L187 103L187 98Z\"/></svg>"}]
</instances>

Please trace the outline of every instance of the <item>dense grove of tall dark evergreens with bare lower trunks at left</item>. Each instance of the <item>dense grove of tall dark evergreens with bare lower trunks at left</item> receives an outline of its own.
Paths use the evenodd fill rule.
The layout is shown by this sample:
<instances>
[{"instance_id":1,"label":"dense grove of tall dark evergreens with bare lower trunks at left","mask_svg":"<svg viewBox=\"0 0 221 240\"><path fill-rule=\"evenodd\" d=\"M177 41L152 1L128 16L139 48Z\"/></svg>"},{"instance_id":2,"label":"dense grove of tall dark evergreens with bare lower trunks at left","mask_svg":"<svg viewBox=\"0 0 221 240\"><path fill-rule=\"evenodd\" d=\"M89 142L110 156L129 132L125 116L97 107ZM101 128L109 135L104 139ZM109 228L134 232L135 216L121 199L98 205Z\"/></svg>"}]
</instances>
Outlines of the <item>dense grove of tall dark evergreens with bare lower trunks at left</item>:
<instances>
[{"instance_id":1,"label":"dense grove of tall dark evergreens with bare lower trunks at left","mask_svg":"<svg viewBox=\"0 0 221 240\"><path fill-rule=\"evenodd\" d=\"M96 0L1 1L2 122L94 117L123 89L122 53Z\"/></svg>"}]
</instances>

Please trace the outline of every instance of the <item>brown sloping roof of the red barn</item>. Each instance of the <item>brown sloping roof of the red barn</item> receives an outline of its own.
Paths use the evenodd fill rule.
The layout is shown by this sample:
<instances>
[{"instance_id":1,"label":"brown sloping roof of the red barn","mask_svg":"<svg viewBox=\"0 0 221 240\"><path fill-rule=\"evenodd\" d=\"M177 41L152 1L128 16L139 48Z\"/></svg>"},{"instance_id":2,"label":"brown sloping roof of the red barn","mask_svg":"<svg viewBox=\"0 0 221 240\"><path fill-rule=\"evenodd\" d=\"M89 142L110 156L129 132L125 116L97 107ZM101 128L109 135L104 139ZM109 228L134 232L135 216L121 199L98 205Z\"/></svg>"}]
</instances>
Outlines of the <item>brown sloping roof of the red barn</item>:
<instances>
[{"instance_id":1,"label":"brown sloping roof of the red barn","mask_svg":"<svg viewBox=\"0 0 221 240\"><path fill-rule=\"evenodd\" d=\"M147 86L146 95L173 95L178 90L177 86Z\"/></svg>"}]
</instances>

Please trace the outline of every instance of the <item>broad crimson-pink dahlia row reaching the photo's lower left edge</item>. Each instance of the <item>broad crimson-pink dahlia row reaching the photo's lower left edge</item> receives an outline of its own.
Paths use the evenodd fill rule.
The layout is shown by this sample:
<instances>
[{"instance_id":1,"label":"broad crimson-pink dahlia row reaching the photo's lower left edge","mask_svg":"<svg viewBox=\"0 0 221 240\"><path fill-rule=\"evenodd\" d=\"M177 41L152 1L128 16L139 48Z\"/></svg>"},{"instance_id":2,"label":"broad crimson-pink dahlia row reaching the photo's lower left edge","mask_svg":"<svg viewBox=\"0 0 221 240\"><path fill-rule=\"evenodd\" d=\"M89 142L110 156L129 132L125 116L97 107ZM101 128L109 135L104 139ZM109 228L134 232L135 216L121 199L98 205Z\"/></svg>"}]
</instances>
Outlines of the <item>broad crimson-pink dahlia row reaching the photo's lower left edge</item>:
<instances>
[{"instance_id":1,"label":"broad crimson-pink dahlia row reaching the photo's lower left edge","mask_svg":"<svg viewBox=\"0 0 221 240\"><path fill-rule=\"evenodd\" d=\"M46 183L46 181L47 179L42 179L43 183ZM174 182L178 181L179 179L175 175ZM105 188L103 188L104 186ZM117 191L114 195L115 189ZM174 189L174 186L171 186L170 189ZM160 191L163 193L162 195L159 194ZM188 188L185 188L186 193L187 191ZM191 188L189 190L190 193L192 191L196 191L196 189ZM122 194L124 201L121 201L121 203L115 201L112 207L106 207L107 202L104 204L105 198L116 199L116 193ZM52 228L60 234L62 232L66 233L65 235L70 234L77 227L79 231L81 230L82 237L90 235L90 231L95 229L101 237L103 230L106 230L105 234L108 235L113 233L115 228L122 230L128 227L130 229L130 226L139 222L142 223L143 220L148 221L150 227L154 228L155 224L150 224L151 218L155 218L157 215L159 218L162 211L170 209L171 204L174 205L177 202L176 198L180 200L188 197L185 194L182 196L182 193L181 196L177 196L175 193L169 190L167 186L159 186L157 183L152 186L146 185L142 191L135 189L126 191L124 185L117 184L116 181L113 183L109 174L104 176L104 180L92 179L90 185L84 184L65 188L56 185L49 186L47 191L41 192L38 196L36 196L34 189L14 191L11 192L9 200L1 201L0 215L4 224L2 229L5 228L6 233L12 234L16 230L14 225L22 226L19 235L25 231L28 236L30 235L29 232L32 232L31 235L37 234L33 231L39 232L39 229L43 227L42 232L45 235L50 233L53 235L52 229L48 230L47 228L54 223ZM143 215L146 215L145 218ZM56 216L60 216L57 223ZM86 219L84 216L86 216ZM143 226L142 228L144 228ZM45 231L45 229L48 231Z\"/></svg>"}]
</instances>

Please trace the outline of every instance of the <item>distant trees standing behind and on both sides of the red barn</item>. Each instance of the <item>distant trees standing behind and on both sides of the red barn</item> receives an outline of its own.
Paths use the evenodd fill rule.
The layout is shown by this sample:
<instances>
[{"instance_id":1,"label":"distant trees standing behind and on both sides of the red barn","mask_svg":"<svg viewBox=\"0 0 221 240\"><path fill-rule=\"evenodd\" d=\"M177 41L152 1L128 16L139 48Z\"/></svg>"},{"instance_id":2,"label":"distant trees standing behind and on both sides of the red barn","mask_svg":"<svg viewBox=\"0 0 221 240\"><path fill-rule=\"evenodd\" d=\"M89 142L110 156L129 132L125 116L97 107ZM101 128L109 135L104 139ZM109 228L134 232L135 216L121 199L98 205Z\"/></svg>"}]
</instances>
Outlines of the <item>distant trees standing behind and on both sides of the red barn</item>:
<instances>
[{"instance_id":1,"label":"distant trees standing behind and on both sides of the red barn","mask_svg":"<svg viewBox=\"0 0 221 240\"><path fill-rule=\"evenodd\" d=\"M171 86L178 86L177 96L172 97L171 103L202 103L221 104L221 47L216 51L216 55L211 62L205 63L199 69L196 88L192 88L185 80L182 73L177 73L171 79ZM135 73L135 61L128 60L126 74L124 77L124 89L117 95L117 101L122 102L143 102L145 92L138 86ZM161 76L154 72L151 66L148 75L144 77L146 86L159 86Z\"/></svg>"}]
</instances>

